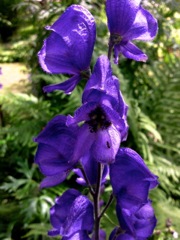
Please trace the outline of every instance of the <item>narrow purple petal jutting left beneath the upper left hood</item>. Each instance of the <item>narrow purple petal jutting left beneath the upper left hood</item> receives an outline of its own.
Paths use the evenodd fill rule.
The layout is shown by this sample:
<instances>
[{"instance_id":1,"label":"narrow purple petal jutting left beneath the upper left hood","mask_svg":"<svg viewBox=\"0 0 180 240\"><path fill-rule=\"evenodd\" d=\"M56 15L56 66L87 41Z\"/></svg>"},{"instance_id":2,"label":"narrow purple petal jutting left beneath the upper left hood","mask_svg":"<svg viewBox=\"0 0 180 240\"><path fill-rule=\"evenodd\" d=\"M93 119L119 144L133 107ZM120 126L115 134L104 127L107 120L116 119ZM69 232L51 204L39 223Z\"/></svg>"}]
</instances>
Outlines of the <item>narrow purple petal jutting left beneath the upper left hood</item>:
<instances>
[{"instance_id":1,"label":"narrow purple petal jutting left beneath the upper left hood","mask_svg":"<svg viewBox=\"0 0 180 240\"><path fill-rule=\"evenodd\" d=\"M71 94L71 92L74 90L76 85L81 80L80 75L74 75L73 77L69 78L65 82L58 83L58 84L52 84L43 87L44 92L52 92L54 90L62 90L66 94Z\"/></svg>"}]
</instances>

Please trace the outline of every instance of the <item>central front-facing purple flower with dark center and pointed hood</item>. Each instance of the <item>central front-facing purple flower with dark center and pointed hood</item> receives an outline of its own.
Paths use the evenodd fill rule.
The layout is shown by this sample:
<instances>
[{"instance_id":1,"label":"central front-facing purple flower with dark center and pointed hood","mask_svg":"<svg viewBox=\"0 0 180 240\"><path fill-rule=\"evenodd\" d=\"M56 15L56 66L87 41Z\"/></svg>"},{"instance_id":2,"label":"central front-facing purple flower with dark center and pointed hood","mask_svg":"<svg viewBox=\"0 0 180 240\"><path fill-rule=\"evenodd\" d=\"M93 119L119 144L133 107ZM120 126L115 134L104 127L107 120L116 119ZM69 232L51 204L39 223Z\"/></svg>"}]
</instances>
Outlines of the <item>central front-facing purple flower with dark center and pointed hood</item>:
<instances>
[{"instance_id":1,"label":"central front-facing purple flower with dark center and pointed hood","mask_svg":"<svg viewBox=\"0 0 180 240\"><path fill-rule=\"evenodd\" d=\"M75 151L82 157L90 154L97 162L112 163L127 137L127 105L106 56L98 58L82 99L74 117L67 118L69 126L81 124Z\"/></svg>"}]
</instances>

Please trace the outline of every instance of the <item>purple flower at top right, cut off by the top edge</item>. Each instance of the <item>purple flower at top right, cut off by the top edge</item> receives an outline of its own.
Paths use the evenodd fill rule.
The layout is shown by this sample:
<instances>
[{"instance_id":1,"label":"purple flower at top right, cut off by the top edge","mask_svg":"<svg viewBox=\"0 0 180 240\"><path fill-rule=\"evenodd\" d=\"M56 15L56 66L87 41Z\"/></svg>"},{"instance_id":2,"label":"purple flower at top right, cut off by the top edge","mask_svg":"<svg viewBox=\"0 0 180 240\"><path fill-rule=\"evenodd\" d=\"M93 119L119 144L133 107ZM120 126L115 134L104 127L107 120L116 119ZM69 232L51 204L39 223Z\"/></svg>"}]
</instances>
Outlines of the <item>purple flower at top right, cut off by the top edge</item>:
<instances>
[{"instance_id":1,"label":"purple flower at top right, cut off by the top edge","mask_svg":"<svg viewBox=\"0 0 180 240\"><path fill-rule=\"evenodd\" d=\"M157 20L140 6L141 0L107 0L106 14L110 31L110 51L114 48L115 63L118 55L145 62L148 57L131 41L150 41L157 34Z\"/></svg>"}]
</instances>

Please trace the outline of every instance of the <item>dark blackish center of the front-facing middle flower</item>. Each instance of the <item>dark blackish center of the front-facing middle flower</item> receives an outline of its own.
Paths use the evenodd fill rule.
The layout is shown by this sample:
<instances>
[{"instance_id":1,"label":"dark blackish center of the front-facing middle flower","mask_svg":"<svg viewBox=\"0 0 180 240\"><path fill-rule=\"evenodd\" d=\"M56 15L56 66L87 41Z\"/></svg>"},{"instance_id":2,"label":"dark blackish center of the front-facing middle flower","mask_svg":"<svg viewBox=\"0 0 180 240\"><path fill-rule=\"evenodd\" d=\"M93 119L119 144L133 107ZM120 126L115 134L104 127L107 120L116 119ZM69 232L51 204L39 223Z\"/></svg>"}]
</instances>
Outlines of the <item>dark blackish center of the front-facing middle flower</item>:
<instances>
[{"instance_id":1,"label":"dark blackish center of the front-facing middle flower","mask_svg":"<svg viewBox=\"0 0 180 240\"><path fill-rule=\"evenodd\" d=\"M101 107L97 107L95 110L89 113L90 120L86 121L89 124L90 132L97 132L98 130L107 129L111 122L107 119L105 112Z\"/></svg>"}]
</instances>

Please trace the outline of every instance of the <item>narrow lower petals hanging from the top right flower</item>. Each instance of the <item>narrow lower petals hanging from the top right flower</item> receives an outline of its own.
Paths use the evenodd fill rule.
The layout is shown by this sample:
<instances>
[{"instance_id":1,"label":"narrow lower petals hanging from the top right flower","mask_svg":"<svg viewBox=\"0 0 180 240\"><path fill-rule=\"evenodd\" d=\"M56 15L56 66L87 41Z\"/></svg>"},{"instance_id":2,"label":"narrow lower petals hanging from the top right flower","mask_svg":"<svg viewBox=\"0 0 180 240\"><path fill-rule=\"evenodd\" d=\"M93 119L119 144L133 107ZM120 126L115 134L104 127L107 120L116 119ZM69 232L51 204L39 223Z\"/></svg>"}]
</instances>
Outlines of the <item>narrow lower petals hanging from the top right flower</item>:
<instances>
[{"instance_id":1,"label":"narrow lower petals hanging from the top right flower","mask_svg":"<svg viewBox=\"0 0 180 240\"><path fill-rule=\"evenodd\" d=\"M125 57L135 61L146 62L148 59L147 55L131 42L121 42L120 44L115 45L114 51L116 63L118 62L118 54L120 53L122 53Z\"/></svg>"}]
</instances>

